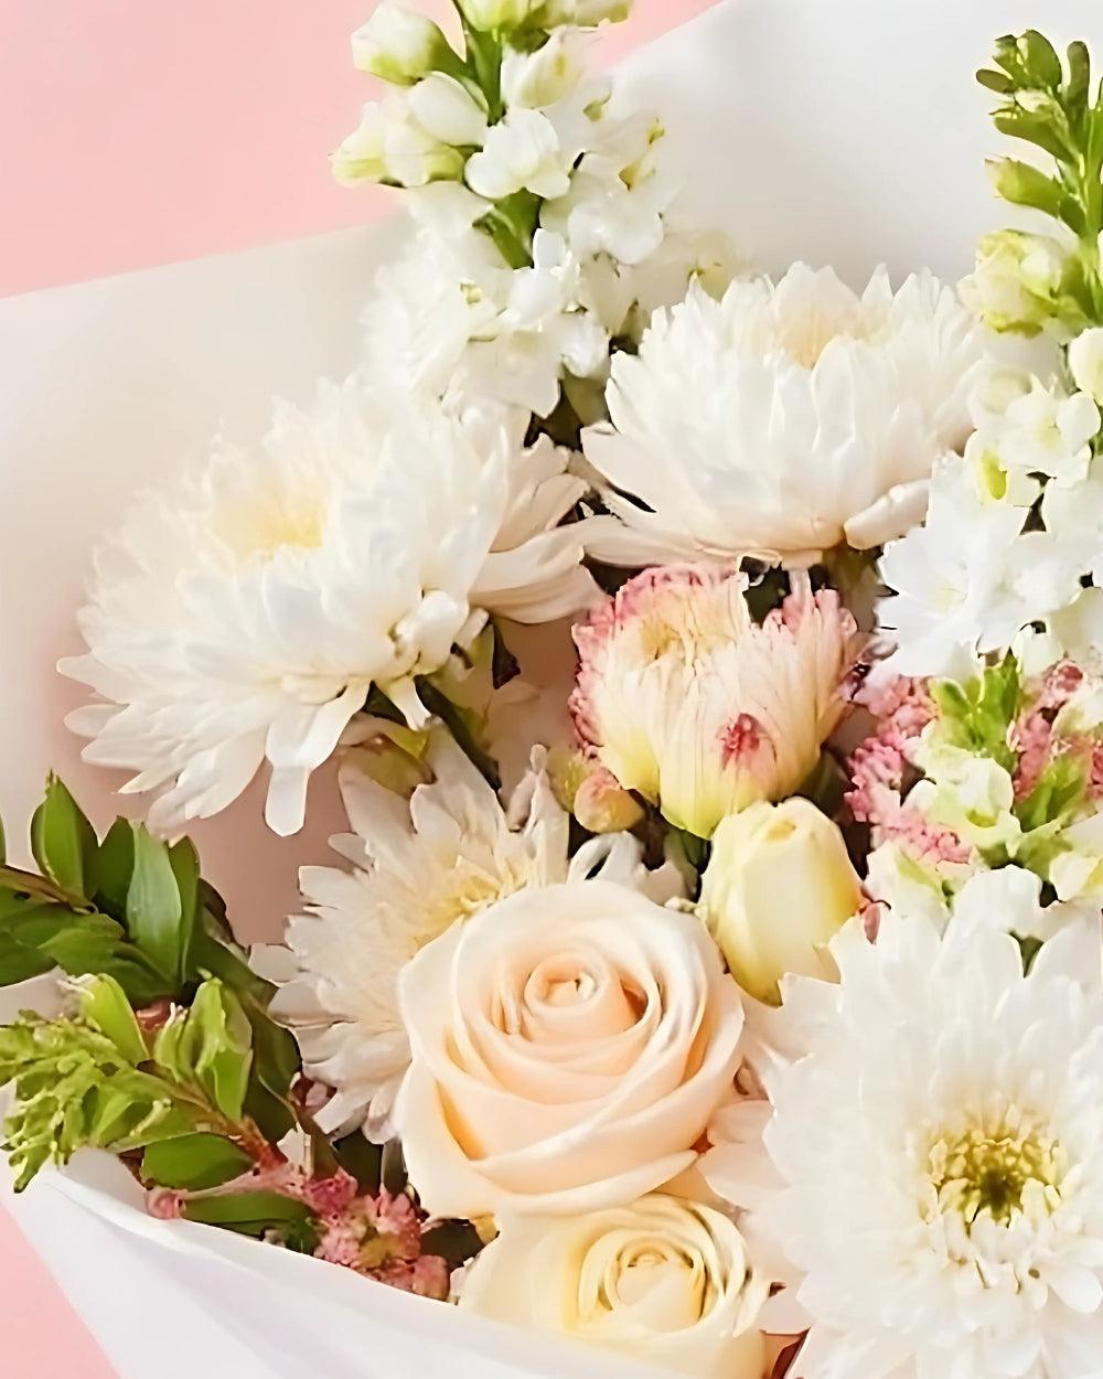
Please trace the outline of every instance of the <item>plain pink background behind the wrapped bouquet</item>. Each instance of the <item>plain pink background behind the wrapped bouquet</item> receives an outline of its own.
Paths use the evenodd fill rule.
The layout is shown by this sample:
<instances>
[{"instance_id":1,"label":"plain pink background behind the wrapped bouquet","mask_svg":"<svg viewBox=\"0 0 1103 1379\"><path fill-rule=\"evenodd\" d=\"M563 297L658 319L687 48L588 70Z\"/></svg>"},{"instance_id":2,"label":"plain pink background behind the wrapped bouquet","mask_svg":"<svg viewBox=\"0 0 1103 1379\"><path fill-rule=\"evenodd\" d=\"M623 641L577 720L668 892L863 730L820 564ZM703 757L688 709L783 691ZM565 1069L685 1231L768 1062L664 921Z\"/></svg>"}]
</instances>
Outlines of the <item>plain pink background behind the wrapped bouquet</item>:
<instances>
[{"instance_id":1,"label":"plain pink background behind the wrapped bouquet","mask_svg":"<svg viewBox=\"0 0 1103 1379\"><path fill-rule=\"evenodd\" d=\"M637 0L631 23L603 40L605 55L711 3ZM347 46L371 8L0 0L0 295L386 214L386 197L338 188L325 163L372 94ZM12 1379L113 1379L3 1209L0 1295Z\"/></svg>"}]
</instances>

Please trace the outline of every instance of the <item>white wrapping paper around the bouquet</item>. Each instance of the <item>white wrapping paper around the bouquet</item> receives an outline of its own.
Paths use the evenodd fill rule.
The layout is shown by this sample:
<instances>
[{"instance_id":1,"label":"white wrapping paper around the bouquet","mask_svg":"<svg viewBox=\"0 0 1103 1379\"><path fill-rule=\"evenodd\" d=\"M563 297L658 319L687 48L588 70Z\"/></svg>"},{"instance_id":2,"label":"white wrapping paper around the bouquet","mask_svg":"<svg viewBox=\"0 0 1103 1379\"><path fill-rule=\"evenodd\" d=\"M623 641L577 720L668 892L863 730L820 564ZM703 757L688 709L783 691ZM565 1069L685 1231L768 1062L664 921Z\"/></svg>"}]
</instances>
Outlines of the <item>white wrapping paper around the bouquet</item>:
<instances>
[{"instance_id":1,"label":"white wrapping paper around the bouquet","mask_svg":"<svg viewBox=\"0 0 1103 1379\"><path fill-rule=\"evenodd\" d=\"M972 70L998 33L1031 23L1103 55L1089 0L728 0L634 58L630 87L662 110L702 221L757 263L831 262L859 283L884 259L895 274L929 265L953 280L976 236L1008 219L983 174L997 141ZM394 239L331 236L0 302L0 811L14 854L51 765L99 822L117 809L116 782L77 763L61 718L79 692L52 670L73 648L97 535L221 425L258 433L273 390L305 397L320 372L346 372L371 270ZM199 830L247 938L274 936L296 865L321 860L324 796L323 782L305 838L266 836L255 793ZM8 1018L50 992L0 996ZM103 1156L44 1174L18 1202L4 1194L120 1379L655 1373L150 1220Z\"/></svg>"}]
</instances>

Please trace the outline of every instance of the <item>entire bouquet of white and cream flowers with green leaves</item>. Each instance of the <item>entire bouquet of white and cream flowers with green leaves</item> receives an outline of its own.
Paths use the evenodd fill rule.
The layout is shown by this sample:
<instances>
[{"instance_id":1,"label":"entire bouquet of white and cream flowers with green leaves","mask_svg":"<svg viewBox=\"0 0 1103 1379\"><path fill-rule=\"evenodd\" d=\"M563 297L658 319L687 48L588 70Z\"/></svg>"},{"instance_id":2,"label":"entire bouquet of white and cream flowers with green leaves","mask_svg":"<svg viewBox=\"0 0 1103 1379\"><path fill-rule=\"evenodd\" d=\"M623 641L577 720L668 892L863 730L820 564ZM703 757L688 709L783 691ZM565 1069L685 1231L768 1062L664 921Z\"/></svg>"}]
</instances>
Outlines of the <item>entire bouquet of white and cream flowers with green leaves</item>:
<instances>
[{"instance_id":1,"label":"entire bouquet of white and cream flowers with green leaves","mask_svg":"<svg viewBox=\"0 0 1103 1379\"><path fill-rule=\"evenodd\" d=\"M627 4L456 10L353 40L358 367L97 556L70 727L149 811L51 776L0 866L17 1187L236 1270L215 1372L1092 1379L1088 50L979 73L1030 228L855 291L687 214ZM247 952L189 827L331 760Z\"/></svg>"}]
</instances>

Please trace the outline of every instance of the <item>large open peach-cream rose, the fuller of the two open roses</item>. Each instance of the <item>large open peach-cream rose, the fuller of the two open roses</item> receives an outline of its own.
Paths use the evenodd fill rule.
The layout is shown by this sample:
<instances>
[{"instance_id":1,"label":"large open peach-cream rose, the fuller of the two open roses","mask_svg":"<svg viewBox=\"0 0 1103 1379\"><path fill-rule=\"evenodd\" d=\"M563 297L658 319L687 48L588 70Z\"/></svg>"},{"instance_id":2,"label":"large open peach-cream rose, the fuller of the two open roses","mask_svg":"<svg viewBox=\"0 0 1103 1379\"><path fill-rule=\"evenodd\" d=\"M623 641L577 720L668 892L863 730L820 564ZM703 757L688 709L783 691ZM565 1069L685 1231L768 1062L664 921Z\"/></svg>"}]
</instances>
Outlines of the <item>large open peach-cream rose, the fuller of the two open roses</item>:
<instances>
[{"instance_id":1,"label":"large open peach-cream rose, the fuller of the two open roses","mask_svg":"<svg viewBox=\"0 0 1103 1379\"><path fill-rule=\"evenodd\" d=\"M396 1109L434 1216L574 1215L696 1158L743 1011L700 923L611 881L520 891L405 968Z\"/></svg>"}]
</instances>

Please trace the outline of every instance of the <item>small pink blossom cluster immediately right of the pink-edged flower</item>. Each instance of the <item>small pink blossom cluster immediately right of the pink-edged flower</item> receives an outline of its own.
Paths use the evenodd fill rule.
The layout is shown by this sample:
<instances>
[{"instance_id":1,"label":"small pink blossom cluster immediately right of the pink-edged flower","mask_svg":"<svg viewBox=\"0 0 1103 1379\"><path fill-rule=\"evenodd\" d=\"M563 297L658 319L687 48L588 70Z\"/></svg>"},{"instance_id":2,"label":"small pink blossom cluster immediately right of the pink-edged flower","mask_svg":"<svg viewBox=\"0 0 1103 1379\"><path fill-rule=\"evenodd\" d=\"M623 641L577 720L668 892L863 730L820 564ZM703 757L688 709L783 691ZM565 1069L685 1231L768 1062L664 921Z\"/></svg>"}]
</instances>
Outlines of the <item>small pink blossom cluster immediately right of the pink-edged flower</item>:
<instances>
[{"instance_id":1,"label":"small pink blossom cluster immediately right of the pink-edged flower","mask_svg":"<svg viewBox=\"0 0 1103 1379\"><path fill-rule=\"evenodd\" d=\"M911 752L938 709L925 680L899 676L866 684L855 694L877 720L876 731L851 754L847 804L859 823L869 823L873 845L898 843L915 860L968 862L969 848L958 836L932 823L904 798Z\"/></svg>"}]
</instances>

